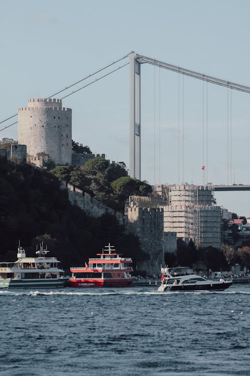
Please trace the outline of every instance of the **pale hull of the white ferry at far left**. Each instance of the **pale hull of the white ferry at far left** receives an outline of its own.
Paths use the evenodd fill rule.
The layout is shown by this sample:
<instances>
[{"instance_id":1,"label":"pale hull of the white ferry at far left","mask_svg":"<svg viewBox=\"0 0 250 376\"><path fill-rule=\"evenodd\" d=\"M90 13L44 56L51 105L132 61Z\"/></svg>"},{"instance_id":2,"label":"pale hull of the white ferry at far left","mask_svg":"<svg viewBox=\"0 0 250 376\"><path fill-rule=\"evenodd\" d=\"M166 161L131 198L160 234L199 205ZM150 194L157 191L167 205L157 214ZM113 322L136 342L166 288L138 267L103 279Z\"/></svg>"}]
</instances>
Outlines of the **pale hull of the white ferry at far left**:
<instances>
[{"instance_id":1,"label":"pale hull of the white ferry at far left","mask_svg":"<svg viewBox=\"0 0 250 376\"><path fill-rule=\"evenodd\" d=\"M64 287L68 278L51 279L0 279L0 288L58 288Z\"/></svg>"}]
</instances>

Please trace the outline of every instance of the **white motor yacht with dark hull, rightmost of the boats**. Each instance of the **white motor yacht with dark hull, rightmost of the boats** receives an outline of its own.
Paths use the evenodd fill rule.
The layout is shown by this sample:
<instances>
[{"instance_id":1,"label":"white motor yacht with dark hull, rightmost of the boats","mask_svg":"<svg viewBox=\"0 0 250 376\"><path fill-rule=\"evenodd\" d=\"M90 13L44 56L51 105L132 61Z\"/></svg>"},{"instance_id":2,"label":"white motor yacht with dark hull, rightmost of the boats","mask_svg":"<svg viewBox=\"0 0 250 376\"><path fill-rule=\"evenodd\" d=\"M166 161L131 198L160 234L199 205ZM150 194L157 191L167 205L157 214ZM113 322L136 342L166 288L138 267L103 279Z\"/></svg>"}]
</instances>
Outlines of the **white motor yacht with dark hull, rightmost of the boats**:
<instances>
[{"instance_id":1,"label":"white motor yacht with dark hull, rightmost of the boats","mask_svg":"<svg viewBox=\"0 0 250 376\"><path fill-rule=\"evenodd\" d=\"M188 267L161 268L161 285L163 291L223 291L231 286L232 281L209 280L194 274Z\"/></svg>"}]
</instances>

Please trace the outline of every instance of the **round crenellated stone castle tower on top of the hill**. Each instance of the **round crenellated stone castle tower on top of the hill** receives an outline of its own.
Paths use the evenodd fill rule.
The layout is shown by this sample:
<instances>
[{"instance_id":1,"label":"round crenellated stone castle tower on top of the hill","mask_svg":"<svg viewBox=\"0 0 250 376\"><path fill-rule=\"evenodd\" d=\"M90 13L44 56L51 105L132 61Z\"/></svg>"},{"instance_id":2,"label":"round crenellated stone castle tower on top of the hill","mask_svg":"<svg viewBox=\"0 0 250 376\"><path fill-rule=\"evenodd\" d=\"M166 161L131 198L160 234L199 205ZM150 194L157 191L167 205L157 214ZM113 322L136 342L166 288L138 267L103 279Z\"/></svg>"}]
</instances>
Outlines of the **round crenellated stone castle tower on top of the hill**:
<instances>
[{"instance_id":1,"label":"round crenellated stone castle tower on top of the hill","mask_svg":"<svg viewBox=\"0 0 250 376\"><path fill-rule=\"evenodd\" d=\"M18 109L18 143L35 161L48 156L55 164L71 164L72 110L61 99L35 98ZM36 164L36 163L35 163Z\"/></svg>"}]
</instances>

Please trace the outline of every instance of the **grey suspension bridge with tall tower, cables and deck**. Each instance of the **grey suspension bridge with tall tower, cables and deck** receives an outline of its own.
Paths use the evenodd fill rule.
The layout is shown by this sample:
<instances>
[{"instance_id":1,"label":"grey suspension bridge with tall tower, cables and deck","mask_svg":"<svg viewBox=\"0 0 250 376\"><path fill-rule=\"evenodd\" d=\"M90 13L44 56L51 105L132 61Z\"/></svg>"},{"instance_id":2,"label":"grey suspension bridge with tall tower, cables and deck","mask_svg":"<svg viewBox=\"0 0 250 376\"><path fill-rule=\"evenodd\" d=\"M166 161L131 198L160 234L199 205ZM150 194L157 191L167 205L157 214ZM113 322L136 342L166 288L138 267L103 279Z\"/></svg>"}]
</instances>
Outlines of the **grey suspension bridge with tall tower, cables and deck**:
<instances>
[{"instance_id":1,"label":"grey suspension bridge with tall tower, cables and deck","mask_svg":"<svg viewBox=\"0 0 250 376\"><path fill-rule=\"evenodd\" d=\"M128 61L125 61L128 60ZM159 69L165 69L168 71L172 71L177 73L178 75L188 76L196 80L201 80L203 82L211 83L218 86L223 86L230 90L227 93L227 104L229 108L229 104L231 105L231 90L241 91L244 93L250 93L250 87L237 84L235 82L223 80L217 77L205 75L203 73L198 73L189 69L185 69L179 66L175 66L172 64L168 64L156 59L152 59L143 55L139 55L135 52L130 52L129 54L123 56L122 58L113 61L111 64L104 66L103 68L88 74L87 76L83 77L82 79L72 83L69 86L47 96L46 98L52 98L55 96L60 95L60 99L67 98L68 96L79 92L80 90L86 88L89 85L96 83L97 81L107 77L108 75L114 73L115 71L127 66L129 64L129 83L130 83L130 99L129 99L129 175L134 178L141 179L141 66L143 64L149 64L154 67L158 67ZM107 71L108 70L108 71ZM70 89L79 86L79 84L84 83L84 85L77 87L76 89L69 92ZM205 144L205 137L207 135L207 108L205 113L205 105L204 101L207 101L207 86L206 86L206 93L203 87L203 124L202 124L202 169L203 172L203 182L206 183L206 171L207 171L207 164L208 164L208 157L207 157L207 144ZM205 98L206 96L206 98ZM180 111L180 109L179 109ZM179 112L178 111L178 112ZM0 124L7 123L11 119L17 116L17 113L11 115L4 120L0 121ZM155 115L154 115L155 116ZM227 176L230 175L231 180L231 113L229 111L228 116L228 131L227 131ZM180 175L180 114L178 113L178 180ZM16 124L17 121L11 122L10 124L6 124L0 131ZM155 138L155 134L154 134ZM182 140L182 142L184 142ZM155 140L154 140L155 143ZM207 143L207 140L206 140ZM183 153L184 158L184 153ZM154 144L154 170L155 170L155 144ZM229 180L229 178L227 178ZM155 175L154 175L154 183L155 183ZM243 191L243 190L250 190L250 185L245 184L226 184L226 185L213 185L214 191Z\"/></svg>"}]
</instances>

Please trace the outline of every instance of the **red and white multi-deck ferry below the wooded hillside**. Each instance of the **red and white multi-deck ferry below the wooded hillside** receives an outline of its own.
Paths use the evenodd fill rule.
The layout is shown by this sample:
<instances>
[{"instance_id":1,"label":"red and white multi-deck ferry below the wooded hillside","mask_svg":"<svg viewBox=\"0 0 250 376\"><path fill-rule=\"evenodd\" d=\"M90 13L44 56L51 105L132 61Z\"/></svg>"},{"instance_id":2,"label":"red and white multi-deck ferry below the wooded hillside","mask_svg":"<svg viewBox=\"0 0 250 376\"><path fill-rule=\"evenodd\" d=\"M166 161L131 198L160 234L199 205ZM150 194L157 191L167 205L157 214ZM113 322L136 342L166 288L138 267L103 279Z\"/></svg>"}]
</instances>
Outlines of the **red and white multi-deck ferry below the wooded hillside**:
<instances>
[{"instance_id":1,"label":"red and white multi-deck ferry below the wooded hillside","mask_svg":"<svg viewBox=\"0 0 250 376\"><path fill-rule=\"evenodd\" d=\"M104 247L96 258L89 259L88 265L70 268L69 287L126 287L133 281L131 258L120 257L113 246Z\"/></svg>"}]
</instances>

